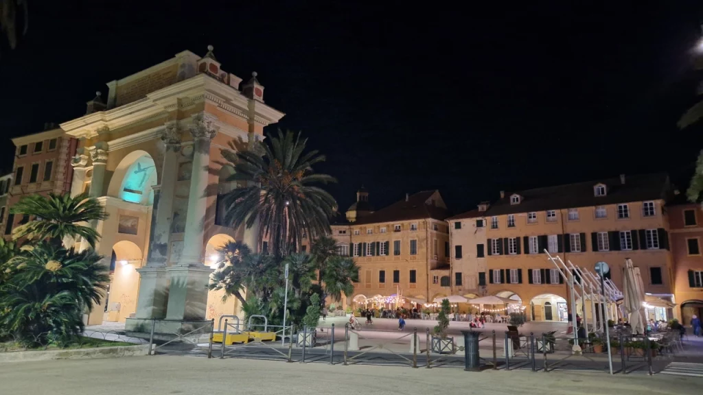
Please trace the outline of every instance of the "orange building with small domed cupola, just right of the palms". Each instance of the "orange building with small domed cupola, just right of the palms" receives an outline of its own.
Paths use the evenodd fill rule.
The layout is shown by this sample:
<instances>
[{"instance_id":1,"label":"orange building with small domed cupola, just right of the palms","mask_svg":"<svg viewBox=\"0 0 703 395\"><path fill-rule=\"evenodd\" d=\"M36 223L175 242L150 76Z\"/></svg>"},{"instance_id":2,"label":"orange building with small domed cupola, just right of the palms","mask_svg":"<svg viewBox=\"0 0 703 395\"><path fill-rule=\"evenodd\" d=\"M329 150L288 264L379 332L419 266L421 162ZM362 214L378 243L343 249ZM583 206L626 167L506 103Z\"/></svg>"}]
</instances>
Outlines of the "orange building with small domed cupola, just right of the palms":
<instances>
[{"instance_id":1,"label":"orange building with small domed cupola, just right of the palms","mask_svg":"<svg viewBox=\"0 0 703 395\"><path fill-rule=\"evenodd\" d=\"M332 233L340 252L359 265L352 304L387 306L398 292L415 304L451 294L449 215L438 190L406 195L378 211L360 190L346 216Z\"/></svg>"}]
</instances>

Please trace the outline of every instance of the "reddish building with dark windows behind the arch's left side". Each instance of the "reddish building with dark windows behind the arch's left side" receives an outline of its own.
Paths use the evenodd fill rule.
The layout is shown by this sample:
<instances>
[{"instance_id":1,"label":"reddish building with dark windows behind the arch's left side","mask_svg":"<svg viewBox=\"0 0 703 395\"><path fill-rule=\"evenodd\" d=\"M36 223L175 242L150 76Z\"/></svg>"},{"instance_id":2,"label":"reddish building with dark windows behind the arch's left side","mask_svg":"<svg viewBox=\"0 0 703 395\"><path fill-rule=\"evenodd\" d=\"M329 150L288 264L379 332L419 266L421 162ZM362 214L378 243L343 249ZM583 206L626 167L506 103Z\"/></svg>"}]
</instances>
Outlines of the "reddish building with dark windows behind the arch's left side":
<instances>
[{"instance_id":1,"label":"reddish building with dark windows behind the arch's left side","mask_svg":"<svg viewBox=\"0 0 703 395\"><path fill-rule=\"evenodd\" d=\"M11 183L6 183L7 207L19 202L26 195L63 194L71 190L71 160L78 141L65 131L46 124L44 131L12 139L15 144L15 164ZM8 189L9 186L9 189ZM9 238L12 229L28 218L15 217L8 210L1 210L3 234Z\"/></svg>"}]
</instances>

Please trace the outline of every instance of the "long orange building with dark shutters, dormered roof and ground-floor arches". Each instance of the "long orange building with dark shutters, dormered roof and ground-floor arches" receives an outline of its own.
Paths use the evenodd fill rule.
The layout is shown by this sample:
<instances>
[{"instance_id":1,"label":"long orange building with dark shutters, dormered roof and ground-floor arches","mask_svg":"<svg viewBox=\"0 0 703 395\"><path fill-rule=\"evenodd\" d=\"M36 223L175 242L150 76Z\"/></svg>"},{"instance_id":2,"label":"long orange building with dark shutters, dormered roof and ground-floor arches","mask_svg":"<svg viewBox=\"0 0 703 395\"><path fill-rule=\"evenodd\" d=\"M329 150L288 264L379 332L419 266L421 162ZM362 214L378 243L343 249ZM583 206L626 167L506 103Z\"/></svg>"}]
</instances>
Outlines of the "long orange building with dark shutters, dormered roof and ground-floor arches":
<instances>
[{"instance_id":1,"label":"long orange building with dark shutters, dormered roof and ground-floor arches","mask_svg":"<svg viewBox=\"0 0 703 395\"><path fill-rule=\"evenodd\" d=\"M663 209L668 192L669 177L662 173L501 191L480 216L486 269L484 275L479 271L479 285L485 279L487 294L522 304L529 320L567 320L567 287L544 250L591 271L605 261L606 277L618 287L624 261L631 258L640 267L652 318L671 316L673 259ZM454 218L472 218L470 213ZM453 245L478 244L476 236L457 237Z\"/></svg>"}]
</instances>

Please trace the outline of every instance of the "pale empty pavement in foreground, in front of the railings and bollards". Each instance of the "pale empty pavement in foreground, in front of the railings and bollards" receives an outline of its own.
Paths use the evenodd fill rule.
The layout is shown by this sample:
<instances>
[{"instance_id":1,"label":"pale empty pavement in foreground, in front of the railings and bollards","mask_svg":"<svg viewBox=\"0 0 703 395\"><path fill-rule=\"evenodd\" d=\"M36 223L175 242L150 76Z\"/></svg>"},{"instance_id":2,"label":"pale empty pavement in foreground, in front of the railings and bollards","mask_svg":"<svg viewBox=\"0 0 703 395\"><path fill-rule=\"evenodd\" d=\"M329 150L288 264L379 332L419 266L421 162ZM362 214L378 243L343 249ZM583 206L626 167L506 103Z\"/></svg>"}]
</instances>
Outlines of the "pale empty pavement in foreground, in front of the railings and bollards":
<instances>
[{"instance_id":1,"label":"pale empty pavement in foreground, in front of the railings and bollards","mask_svg":"<svg viewBox=\"0 0 703 395\"><path fill-rule=\"evenodd\" d=\"M699 394L703 379L669 375L343 366L146 356L8 363L3 394Z\"/></svg>"}]
</instances>

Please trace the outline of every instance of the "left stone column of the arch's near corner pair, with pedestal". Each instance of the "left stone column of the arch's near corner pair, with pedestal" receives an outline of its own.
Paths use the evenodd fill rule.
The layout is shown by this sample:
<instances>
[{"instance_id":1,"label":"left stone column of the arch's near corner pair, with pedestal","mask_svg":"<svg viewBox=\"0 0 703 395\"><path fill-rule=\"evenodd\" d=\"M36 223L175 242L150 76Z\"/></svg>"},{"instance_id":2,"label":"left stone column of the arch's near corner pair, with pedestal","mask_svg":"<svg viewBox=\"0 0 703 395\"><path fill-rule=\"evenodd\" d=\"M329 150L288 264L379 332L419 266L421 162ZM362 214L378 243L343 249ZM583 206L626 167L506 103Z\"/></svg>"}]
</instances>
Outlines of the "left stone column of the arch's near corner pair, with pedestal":
<instances>
[{"instance_id":1,"label":"left stone column of the arch's near corner pair, with pedestal","mask_svg":"<svg viewBox=\"0 0 703 395\"><path fill-rule=\"evenodd\" d=\"M138 268L139 297L136 319L164 318L167 306L167 271L169 236L173 216L173 197L178 176L178 153L181 150L181 129L178 122L167 122L161 135L165 144L161 185L154 189L149 252L146 265ZM128 319L129 320L129 319Z\"/></svg>"}]
</instances>

